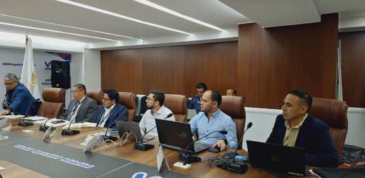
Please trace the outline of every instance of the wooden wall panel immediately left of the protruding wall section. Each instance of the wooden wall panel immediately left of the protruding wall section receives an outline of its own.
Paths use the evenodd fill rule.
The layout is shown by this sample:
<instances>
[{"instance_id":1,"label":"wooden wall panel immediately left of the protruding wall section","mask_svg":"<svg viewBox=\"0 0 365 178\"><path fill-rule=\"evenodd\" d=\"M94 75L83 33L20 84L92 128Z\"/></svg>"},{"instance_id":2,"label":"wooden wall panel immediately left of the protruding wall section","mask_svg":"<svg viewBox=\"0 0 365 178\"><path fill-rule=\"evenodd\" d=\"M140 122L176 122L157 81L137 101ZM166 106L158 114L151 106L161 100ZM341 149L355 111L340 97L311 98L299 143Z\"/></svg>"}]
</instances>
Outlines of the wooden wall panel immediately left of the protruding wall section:
<instances>
[{"instance_id":1,"label":"wooden wall panel immediately left of the protruding wall section","mask_svg":"<svg viewBox=\"0 0 365 178\"><path fill-rule=\"evenodd\" d=\"M194 44L186 46L186 94L197 94L197 83L225 94L236 87L237 42Z\"/></svg>"}]
</instances>

